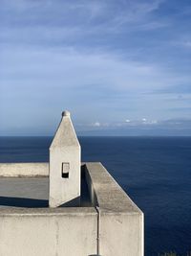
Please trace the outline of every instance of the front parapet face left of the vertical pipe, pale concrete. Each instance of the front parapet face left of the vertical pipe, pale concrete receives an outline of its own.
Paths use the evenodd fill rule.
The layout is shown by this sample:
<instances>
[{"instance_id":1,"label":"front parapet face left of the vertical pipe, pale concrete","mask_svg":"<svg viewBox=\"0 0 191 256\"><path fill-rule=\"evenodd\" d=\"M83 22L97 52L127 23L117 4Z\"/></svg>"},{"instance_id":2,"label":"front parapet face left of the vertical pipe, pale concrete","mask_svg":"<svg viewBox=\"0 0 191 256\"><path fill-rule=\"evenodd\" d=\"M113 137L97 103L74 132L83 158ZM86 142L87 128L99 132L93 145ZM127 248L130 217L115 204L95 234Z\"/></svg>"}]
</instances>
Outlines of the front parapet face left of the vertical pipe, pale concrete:
<instances>
[{"instance_id":1,"label":"front parapet face left of the vertical pipe, pale concrete","mask_svg":"<svg viewBox=\"0 0 191 256\"><path fill-rule=\"evenodd\" d=\"M0 211L0 255L88 256L96 254L94 208ZM60 209L58 209L60 210Z\"/></svg>"}]
</instances>

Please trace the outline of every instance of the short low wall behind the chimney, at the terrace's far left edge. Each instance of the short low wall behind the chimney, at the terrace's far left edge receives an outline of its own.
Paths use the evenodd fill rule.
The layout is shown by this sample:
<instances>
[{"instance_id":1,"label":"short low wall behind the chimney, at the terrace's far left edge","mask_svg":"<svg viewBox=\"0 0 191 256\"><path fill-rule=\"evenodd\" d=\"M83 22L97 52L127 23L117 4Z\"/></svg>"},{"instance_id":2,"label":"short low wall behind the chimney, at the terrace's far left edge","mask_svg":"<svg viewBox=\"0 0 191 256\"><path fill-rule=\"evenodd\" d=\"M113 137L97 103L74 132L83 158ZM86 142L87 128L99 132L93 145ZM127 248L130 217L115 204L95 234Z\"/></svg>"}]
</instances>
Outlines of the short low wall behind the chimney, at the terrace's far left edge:
<instances>
[{"instance_id":1,"label":"short low wall behind the chimney, at the terrace's far left edge","mask_svg":"<svg viewBox=\"0 0 191 256\"><path fill-rule=\"evenodd\" d=\"M49 176L49 163L0 163L0 177Z\"/></svg>"}]
</instances>

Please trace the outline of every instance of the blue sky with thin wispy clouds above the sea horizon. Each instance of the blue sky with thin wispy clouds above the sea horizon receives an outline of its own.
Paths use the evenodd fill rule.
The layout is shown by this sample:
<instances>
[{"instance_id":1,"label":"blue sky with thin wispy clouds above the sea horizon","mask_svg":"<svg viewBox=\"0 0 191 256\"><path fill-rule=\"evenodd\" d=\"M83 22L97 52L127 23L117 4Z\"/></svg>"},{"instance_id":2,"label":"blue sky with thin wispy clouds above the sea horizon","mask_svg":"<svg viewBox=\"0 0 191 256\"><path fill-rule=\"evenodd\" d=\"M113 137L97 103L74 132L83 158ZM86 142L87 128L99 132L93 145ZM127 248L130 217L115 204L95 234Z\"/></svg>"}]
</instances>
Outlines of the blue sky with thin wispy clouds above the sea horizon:
<instances>
[{"instance_id":1,"label":"blue sky with thin wispy clouds above the sea horizon","mask_svg":"<svg viewBox=\"0 0 191 256\"><path fill-rule=\"evenodd\" d=\"M0 0L0 135L191 135L190 0Z\"/></svg>"}]
</instances>

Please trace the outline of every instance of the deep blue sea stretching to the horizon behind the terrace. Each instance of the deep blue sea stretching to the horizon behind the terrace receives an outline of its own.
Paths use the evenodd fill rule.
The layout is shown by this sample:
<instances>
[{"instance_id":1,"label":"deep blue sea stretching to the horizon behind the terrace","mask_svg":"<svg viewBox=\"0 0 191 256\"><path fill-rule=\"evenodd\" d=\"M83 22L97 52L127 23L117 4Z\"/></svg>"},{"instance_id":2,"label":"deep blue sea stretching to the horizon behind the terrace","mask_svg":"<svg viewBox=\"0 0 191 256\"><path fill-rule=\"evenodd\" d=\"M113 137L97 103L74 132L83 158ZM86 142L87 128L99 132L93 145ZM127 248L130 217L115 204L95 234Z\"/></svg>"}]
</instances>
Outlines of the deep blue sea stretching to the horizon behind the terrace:
<instances>
[{"instance_id":1,"label":"deep blue sea stretching to the horizon behind the terrace","mask_svg":"<svg viewBox=\"0 0 191 256\"><path fill-rule=\"evenodd\" d=\"M0 162L49 160L51 137L0 137ZM145 215L145 256L191 251L191 137L80 137Z\"/></svg>"}]
</instances>

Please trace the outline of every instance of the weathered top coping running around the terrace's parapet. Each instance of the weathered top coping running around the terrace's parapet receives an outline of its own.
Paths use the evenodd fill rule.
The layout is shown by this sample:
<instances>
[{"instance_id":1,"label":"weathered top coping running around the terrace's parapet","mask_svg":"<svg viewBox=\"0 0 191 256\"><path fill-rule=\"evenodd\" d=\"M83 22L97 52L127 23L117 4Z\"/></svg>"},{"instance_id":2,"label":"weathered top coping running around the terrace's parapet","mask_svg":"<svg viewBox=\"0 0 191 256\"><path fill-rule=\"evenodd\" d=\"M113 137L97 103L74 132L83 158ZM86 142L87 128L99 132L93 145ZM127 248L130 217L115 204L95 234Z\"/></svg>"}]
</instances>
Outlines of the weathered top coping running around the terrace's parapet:
<instances>
[{"instance_id":1,"label":"weathered top coping running around the terrace's parapet","mask_svg":"<svg viewBox=\"0 0 191 256\"><path fill-rule=\"evenodd\" d=\"M122 190L122 188L117 184L117 181L110 175L103 165L99 162L87 162L82 163L85 166L85 174L87 183L92 183L94 192L96 195L96 207L102 213L124 213L124 214L140 214L142 212L139 210L138 206L127 196L127 194ZM48 176L49 175L49 163L0 163L0 177L38 177L38 176ZM73 210L75 209L75 210ZM83 212L85 207L62 207L62 208L27 208L23 209L0 209L0 214L2 213L39 213L39 214L59 214L77 211ZM85 210L87 213L90 211L91 207ZM93 207L92 207L93 209Z\"/></svg>"}]
</instances>

